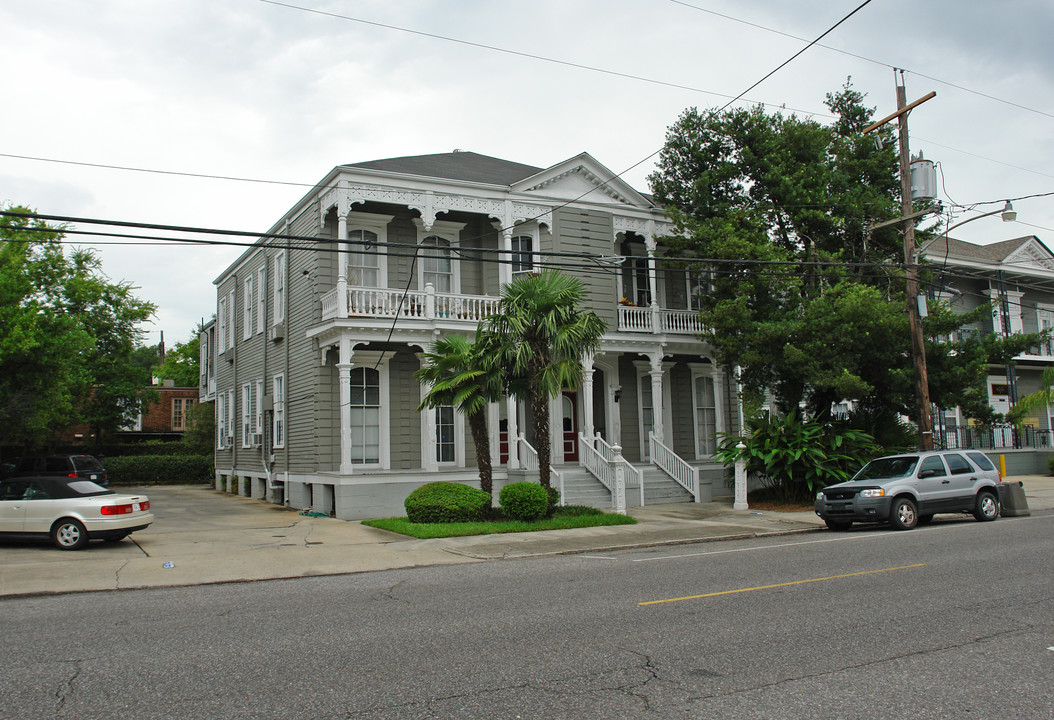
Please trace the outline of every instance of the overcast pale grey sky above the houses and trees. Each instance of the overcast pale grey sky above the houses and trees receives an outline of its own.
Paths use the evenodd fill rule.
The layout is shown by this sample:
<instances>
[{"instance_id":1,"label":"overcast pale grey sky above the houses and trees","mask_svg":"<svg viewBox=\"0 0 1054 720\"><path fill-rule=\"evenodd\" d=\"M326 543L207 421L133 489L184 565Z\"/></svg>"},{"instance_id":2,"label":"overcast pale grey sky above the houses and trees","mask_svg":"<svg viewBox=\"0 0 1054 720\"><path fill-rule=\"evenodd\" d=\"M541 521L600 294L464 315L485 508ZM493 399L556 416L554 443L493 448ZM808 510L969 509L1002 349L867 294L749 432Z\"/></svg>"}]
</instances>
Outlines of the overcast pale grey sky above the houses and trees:
<instances>
[{"instance_id":1,"label":"overcast pale grey sky above the houses and trees","mask_svg":"<svg viewBox=\"0 0 1054 720\"><path fill-rule=\"evenodd\" d=\"M723 105L862 1L0 0L0 203L264 232L337 164L454 149L542 168L588 152L647 191L681 111ZM976 215L1054 193L1052 32L1050 0L872 0L741 104L827 122L852 76L883 117L903 69L909 101L937 92L912 152L939 162L945 202L992 203ZM1014 206L1018 222L953 236L1054 242L1054 195ZM99 249L170 347L240 253Z\"/></svg>"}]
</instances>

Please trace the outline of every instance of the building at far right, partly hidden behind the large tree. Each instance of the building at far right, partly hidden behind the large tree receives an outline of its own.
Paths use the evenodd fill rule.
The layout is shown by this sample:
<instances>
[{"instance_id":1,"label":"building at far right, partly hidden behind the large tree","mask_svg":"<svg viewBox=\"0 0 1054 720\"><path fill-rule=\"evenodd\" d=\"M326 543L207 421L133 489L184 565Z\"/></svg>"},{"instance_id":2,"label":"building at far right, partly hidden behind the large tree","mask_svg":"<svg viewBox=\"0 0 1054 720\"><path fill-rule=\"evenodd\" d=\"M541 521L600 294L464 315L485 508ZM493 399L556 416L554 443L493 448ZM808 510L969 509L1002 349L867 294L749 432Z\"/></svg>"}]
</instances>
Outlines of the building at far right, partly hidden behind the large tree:
<instances>
[{"instance_id":1,"label":"building at far right, partly hidden behind the large tree","mask_svg":"<svg viewBox=\"0 0 1054 720\"><path fill-rule=\"evenodd\" d=\"M992 245L974 245L939 237L921 250L936 273L931 295L967 312L991 303L992 314L975 327L959 332L1009 335L1039 332L1054 327L1054 254L1035 236ZM1008 412L1017 398L1040 388L1039 376L1054 363L1054 342L1014 358L1012 366L992 366L989 403ZM935 440L946 447L1050 447L1054 408L1034 413L1022 431L1004 427L971 428L958 408L934 414Z\"/></svg>"}]
</instances>

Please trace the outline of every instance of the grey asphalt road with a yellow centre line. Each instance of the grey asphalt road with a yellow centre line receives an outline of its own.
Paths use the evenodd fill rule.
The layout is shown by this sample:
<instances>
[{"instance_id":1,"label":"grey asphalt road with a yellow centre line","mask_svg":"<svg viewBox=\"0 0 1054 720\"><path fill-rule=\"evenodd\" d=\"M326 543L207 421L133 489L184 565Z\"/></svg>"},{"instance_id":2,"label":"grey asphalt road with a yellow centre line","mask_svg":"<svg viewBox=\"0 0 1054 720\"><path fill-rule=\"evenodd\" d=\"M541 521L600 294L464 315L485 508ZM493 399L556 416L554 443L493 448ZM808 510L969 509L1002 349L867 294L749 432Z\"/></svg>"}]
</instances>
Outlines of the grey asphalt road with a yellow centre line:
<instances>
[{"instance_id":1,"label":"grey asphalt road with a yellow centre line","mask_svg":"<svg viewBox=\"0 0 1054 720\"><path fill-rule=\"evenodd\" d=\"M1054 717L1054 513L0 601L0 717Z\"/></svg>"}]
</instances>

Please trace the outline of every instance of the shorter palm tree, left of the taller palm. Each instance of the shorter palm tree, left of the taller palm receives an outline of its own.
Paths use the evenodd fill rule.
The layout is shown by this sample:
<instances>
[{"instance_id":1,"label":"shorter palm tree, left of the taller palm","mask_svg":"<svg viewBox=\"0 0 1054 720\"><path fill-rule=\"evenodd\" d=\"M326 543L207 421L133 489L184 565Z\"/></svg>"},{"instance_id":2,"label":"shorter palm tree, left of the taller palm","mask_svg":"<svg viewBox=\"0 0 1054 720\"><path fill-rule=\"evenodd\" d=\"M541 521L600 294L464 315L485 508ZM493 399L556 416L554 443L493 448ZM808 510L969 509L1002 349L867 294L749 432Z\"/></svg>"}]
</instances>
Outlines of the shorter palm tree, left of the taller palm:
<instances>
[{"instance_id":1,"label":"shorter palm tree, left of the taller palm","mask_svg":"<svg viewBox=\"0 0 1054 720\"><path fill-rule=\"evenodd\" d=\"M487 406L501 400L502 373L490 367L480 352L481 345L461 335L443 337L425 353L425 365L414 373L429 387L417 411L451 406L468 417L475 462L480 468L480 489L492 495L490 435L487 433Z\"/></svg>"}]
</instances>

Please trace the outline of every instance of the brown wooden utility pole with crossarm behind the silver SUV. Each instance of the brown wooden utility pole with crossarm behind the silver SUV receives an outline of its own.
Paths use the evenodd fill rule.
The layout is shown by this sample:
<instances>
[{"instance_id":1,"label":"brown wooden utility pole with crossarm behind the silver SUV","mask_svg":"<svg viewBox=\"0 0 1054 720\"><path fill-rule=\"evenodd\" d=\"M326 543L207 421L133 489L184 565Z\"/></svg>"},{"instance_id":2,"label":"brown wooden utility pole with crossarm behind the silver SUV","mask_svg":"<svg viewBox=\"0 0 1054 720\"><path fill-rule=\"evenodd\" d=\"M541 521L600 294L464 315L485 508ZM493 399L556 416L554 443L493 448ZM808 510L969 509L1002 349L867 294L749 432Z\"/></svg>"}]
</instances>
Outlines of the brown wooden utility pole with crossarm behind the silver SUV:
<instances>
[{"instance_id":1,"label":"brown wooden utility pole with crossarm behind the silver SUV","mask_svg":"<svg viewBox=\"0 0 1054 720\"><path fill-rule=\"evenodd\" d=\"M930 376L925 366L925 343L922 337L922 320L919 317L918 262L915 252L915 219L912 214L911 153L907 148L907 113L915 106L936 97L936 93L919 98L907 104L904 87L904 73L900 71L897 82L897 112L875 124L865 128L864 134L881 128L897 118L900 141L900 216L904 233L904 270L906 274L907 323L912 334L912 358L915 364L915 402L919 429L919 448L933 449L933 421L930 416Z\"/></svg>"}]
</instances>

